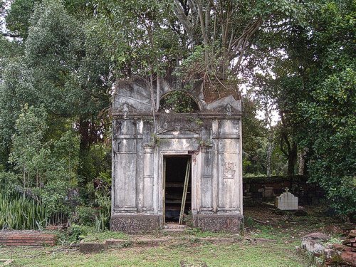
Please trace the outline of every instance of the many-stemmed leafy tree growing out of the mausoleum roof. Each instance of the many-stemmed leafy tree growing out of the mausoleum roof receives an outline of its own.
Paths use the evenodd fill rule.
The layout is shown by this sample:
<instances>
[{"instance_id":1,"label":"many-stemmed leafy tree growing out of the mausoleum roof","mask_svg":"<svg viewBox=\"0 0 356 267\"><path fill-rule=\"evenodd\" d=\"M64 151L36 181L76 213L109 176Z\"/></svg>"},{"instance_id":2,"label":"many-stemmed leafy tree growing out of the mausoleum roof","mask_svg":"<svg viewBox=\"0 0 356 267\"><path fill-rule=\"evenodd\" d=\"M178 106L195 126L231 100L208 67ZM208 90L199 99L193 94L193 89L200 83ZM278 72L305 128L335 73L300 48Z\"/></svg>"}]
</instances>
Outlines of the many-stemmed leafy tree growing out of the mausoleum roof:
<instances>
[{"instance_id":1,"label":"many-stemmed leafy tree growing out of the mausoleum roof","mask_svg":"<svg viewBox=\"0 0 356 267\"><path fill-rule=\"evenodd\" d=\"M253 35L266 21L301 19L298 1L100 1L98 19L117 76L168 75L224 88L241 73ZM187 61L184 64L184 61Z\"/></svg>"}]
</instances>

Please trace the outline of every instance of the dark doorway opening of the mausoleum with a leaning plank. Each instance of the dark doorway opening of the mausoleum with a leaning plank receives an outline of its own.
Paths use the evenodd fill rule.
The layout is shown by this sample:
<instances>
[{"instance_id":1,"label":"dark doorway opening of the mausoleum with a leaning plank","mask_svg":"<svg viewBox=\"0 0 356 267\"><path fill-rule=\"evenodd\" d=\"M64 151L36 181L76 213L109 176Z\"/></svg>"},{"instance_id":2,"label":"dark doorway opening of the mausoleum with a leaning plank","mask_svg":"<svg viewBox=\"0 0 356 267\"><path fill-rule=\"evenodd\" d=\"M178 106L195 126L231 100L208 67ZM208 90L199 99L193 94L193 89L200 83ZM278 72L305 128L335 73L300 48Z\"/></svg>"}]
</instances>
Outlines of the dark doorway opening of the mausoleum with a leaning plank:
<instances>
[{"instance_id":1,"label":"dark doorway opening of the mausoleum with a leaning plank","mask_svg":"<svg viewBox=\"0 0 356 267\"><path fill-rule=\"evenodd\" d=\"M192 157L190 155L174 155L167 156L164 159L164 223L178 223L182 201L184 201L186 174L187 194L185 197L184 214L188 214L192 208ZM184 220L183 224L185 224Z\"/></svg>"}]
</instances>

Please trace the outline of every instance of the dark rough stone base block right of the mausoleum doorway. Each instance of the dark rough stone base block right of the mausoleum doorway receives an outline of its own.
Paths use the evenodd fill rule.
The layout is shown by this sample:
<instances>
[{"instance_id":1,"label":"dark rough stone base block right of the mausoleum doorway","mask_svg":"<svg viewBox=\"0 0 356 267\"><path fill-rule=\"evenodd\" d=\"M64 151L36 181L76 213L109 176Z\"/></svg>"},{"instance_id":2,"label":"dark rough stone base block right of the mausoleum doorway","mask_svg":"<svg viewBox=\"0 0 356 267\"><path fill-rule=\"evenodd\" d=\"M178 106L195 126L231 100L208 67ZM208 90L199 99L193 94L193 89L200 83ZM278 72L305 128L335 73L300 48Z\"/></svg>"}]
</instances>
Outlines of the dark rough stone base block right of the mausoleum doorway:
<instances>
[{"instance_id":1,"label":"dark rough stone base block right of the mausoleum doorway","mask_svg":"<svg viewBox=\"0 0 356 267\"><path fill-rule=\"evenodd\" d=\"M203 231L228 231L239 233L242 231L244 216L233 214L197 214L193 216L194 226Z\"/></svg>"}]
</instances>

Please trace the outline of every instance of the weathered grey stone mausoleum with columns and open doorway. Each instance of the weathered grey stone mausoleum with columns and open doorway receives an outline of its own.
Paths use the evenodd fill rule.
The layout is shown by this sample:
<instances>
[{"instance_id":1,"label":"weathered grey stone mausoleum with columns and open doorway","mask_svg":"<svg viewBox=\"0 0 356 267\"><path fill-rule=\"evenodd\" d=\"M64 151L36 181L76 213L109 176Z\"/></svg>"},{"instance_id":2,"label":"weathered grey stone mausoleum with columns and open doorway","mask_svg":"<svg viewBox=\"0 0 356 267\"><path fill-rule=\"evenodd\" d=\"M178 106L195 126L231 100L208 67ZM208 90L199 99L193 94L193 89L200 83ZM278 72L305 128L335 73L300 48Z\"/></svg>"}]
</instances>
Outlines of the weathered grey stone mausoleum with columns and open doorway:
<instances>
[{"instance_id":1,"label":"weathered grey stone mausoleum with columns and open doorway","mask_svg":"<svg viewBox=\"0 0 356 267\"><path fill-rule=\"evenodd\" d=\"M184 213L209 231L239 231L242 212L241 99L204 98L161 80L159 95L180 90L197 104L191 113L152 115L150 89L140 78L120 81L112 103L112 216L110 228L156 231ZM157 86L154 88L156 93ZM162 99L161 98L161 99ZM156 96L155 96L156 99Z\"/></svg>"}]
</instances>

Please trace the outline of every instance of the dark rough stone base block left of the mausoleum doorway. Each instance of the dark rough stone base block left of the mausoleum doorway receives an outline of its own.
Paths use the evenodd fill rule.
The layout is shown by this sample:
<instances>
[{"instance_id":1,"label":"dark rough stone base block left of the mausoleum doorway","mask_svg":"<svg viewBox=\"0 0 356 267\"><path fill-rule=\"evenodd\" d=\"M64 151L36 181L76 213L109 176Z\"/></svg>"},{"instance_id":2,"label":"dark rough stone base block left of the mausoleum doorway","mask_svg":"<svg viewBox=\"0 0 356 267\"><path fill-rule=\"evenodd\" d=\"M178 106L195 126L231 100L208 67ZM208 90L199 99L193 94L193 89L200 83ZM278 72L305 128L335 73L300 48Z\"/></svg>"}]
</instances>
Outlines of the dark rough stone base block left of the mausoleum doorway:
<instances>
[{"instance_id":1,"label":"dark rough stone base block left of the mausoleum doorway","mask_svg":"<svg viewBox=\"0 0 356 267\"><path fill-rule=\"evenodd\" d=\"M122 231L128 234L147 233L157 231L161 226L159 215L112 215L110 219L111 231Z\"/></svg>"}]
</instances>

